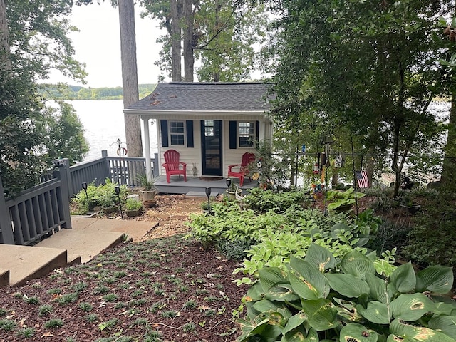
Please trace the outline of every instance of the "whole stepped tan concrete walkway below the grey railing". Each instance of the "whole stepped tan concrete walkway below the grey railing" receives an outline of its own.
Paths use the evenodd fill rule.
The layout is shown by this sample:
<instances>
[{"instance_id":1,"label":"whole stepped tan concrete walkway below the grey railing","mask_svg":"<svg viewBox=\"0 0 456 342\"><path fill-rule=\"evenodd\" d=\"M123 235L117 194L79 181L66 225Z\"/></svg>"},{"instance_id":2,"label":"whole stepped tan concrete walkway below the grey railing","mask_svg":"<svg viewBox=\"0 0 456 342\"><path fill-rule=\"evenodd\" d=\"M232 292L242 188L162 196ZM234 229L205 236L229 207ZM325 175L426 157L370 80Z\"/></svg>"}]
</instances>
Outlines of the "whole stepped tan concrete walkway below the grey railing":
<instances>
[{"instance_id":1,"label":"whole stepped tan concrete walkway below the grey railing","mask_svg":"<svg viewBox=\"0 0 456 342\"><path fill-rule=\"evenodd\" d=\"M33 247L0 244L0 287L20 286L58 267L86 263L123 239L138 242L158 222L71 217L73 229L61 229Z\"/></svg>"}]
</instances>

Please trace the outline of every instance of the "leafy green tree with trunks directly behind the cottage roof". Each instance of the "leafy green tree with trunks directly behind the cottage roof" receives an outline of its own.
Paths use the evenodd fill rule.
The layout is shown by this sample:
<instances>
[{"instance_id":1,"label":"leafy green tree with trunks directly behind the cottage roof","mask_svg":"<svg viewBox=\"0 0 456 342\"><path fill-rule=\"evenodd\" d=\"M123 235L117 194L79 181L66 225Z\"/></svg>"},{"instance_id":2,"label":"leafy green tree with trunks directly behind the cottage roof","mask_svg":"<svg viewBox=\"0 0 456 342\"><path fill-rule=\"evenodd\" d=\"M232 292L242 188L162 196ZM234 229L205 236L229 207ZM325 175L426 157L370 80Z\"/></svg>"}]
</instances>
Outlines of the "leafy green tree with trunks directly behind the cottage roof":
<instances>
[{"instance_id":1,"label":"leafy green tree with trunks directly behind the cottage roof","mask_svg":"<svg viewBox=\"0 0 456 342\"><path fill-rule=\"evenodd\" d=\"M195 60L199 81L239 81L254 68L252 46L261 43L267 16L263 5L242 6L234 1L160 0L141 2L142 16L160 20L167 36L160 38L163 50L157 65L172 81L192 82Z\"/></svg>"}]
</instances>

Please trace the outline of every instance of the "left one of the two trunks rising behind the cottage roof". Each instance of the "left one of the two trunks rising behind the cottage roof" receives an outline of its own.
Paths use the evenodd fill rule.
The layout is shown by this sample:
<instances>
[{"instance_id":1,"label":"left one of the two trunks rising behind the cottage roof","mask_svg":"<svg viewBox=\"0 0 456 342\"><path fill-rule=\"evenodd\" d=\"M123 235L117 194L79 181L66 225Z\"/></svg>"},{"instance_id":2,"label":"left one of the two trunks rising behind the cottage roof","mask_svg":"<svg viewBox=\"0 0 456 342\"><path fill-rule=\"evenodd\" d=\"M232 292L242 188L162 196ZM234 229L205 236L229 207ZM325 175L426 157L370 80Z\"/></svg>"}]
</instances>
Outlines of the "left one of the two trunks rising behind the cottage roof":
<instances>
[{"instance_id":1,"label":"left one of the two trunks rising behind the cottage roof","mask_svg":"<svg viewBox=\"0 0 456 342\"><path fill-rule=\"evenodd\" d=\"M180 1L171 0L171 72L173 82L182 81L182 66L180 63L182 4L180 4Z\"/></svg>"}]
</instances>

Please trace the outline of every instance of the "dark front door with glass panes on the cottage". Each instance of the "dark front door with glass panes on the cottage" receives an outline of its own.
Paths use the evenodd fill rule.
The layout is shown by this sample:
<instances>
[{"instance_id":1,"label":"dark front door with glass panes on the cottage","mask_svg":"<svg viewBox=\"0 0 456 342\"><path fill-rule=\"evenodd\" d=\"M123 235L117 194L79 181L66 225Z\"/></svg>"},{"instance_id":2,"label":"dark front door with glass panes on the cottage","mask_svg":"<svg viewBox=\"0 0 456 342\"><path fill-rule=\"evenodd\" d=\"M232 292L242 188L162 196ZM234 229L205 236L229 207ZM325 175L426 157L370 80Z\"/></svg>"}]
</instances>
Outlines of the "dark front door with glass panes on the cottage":
<instances>
[{"instance_id":1,"label":"dark front door with glass panes on the cottage","mask_svg":"<svg viewBox=\"0 0 456 342\"><path fill-rule=\"evenodd\" d=\"M222 120L201 120L202 175L222 176Z\"/></svg>"}]
</instances>

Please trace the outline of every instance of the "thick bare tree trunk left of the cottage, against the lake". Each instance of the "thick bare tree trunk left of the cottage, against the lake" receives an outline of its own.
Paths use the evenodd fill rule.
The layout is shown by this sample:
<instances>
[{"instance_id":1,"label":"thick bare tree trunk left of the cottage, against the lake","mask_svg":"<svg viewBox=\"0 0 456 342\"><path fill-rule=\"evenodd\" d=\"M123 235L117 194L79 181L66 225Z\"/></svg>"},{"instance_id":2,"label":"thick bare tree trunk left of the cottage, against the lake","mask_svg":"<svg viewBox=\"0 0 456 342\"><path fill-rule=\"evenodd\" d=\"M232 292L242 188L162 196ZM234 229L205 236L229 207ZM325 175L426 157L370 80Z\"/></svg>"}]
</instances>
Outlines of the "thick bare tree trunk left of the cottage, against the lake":
<instances>
[{"instance_id":1,"label":"thick bare tree trunk left of the cottage, against the lake","mask_svg":"<svg viewBox=\"0 0 456 342\"><path fill-rule=\"evenodd\" d=\"M135 6L133 0L119 0L120 56L124 108L139 100L138 67L136 66ZM125 138L128 155L142 157L140 115L126 115Z\"/></svg>"}]
</instances>

